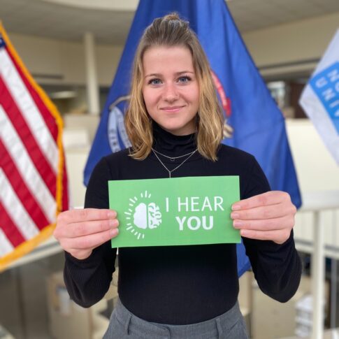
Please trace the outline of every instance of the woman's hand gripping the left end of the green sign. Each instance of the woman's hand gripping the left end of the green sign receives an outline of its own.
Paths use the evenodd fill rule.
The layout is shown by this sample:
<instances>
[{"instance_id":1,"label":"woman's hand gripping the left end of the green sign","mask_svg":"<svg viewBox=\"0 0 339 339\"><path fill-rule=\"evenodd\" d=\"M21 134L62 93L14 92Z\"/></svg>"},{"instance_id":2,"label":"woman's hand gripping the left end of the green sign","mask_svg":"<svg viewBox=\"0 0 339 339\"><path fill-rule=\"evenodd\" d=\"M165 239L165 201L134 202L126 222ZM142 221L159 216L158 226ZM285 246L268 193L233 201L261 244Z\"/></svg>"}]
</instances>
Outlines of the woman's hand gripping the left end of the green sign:
<instances>
[{"instance_id":1,"label":"woman's hand gripping the left end of the green sign","mask_svg":"<svg viewBox=\"0 0 339 339\"><path fill-rule=\"evenodd\" d=\"M53 234L66 252L77 259L86 259L94 248L117 236L116 217L115 210L67 210L58 215Z\"/></svg>"}]
</instances>

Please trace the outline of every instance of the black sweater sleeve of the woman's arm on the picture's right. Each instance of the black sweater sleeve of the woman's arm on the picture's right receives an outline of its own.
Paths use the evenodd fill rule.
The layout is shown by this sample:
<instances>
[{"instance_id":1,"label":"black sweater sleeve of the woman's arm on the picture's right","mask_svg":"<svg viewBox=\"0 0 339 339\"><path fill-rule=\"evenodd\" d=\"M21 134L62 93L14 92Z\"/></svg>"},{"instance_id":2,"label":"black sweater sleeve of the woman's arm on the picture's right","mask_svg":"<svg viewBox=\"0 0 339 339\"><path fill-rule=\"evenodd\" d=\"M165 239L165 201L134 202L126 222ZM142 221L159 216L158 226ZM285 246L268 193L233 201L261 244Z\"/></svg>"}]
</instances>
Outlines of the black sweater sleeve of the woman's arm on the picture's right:
<instances>
[{"instance_id":1,"label":"black sweater sleeve of the woman's arm on the picture's right","mask_svg":"<svg viewBox=\"0 0 339 339\"><path fill-rule=\"evenodd\" d=\"M270 190L257 161L252 158L243 199ZM301 280L301 259L294 244L293 231L282 245L268 240L243 238L254 277L264 294L282 303L294 296Z\"/></svg>"}]
</instances>

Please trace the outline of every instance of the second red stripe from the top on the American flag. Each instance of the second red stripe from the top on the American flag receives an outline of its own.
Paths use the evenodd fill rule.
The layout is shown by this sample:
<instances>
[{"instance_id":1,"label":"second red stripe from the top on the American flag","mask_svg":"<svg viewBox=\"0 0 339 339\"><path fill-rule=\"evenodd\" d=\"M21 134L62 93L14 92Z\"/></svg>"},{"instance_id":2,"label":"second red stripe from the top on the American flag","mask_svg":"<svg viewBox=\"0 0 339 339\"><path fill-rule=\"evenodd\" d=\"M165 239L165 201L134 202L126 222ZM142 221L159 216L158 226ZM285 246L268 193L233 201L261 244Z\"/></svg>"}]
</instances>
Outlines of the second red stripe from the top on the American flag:
<instances>
[{"instance_id":1,"label":"second red stripe from the top on the American flag","mask_svg":"<svg viewBox=\"0 0 339 339\"><path fill-rule=\"evenodd\" d=\"M52 196L56 194L57 177L52 170L50 163L45 159L44 154L41 152L36 139L31 134L31 130L27 126L26 120L22 117L20 110L17 108L15 101L13 101L10 92L8 91L6 84L3 82L0 76L0 105L8 115L8 118L13 124L16 131L20 131L20 139L24 144L27 152L29 153L31 160L34 163L38 173L45 182L46 187L50 189Z\"/></svg>"}]
</instances>

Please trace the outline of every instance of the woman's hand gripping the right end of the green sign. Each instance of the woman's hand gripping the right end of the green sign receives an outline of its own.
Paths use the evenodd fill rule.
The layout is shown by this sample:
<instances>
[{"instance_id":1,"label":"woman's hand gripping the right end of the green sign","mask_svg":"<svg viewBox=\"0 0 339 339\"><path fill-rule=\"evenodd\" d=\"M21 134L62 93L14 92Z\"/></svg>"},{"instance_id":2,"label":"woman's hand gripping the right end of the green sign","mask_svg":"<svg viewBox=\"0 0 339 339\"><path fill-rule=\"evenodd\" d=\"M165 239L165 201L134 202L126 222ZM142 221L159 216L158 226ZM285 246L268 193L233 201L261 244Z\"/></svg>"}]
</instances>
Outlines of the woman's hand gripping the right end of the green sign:
<instances>
[{"instance_id":1,"label":"woman's hand gripping the right end of the green sign","mask_svg":"<svg viewBox=\"0 0 339 339\"><path fill-rule=\"evenodd\" d=\"M284 243L294 226L296 206L286 192L273 191L233 203L233 226L245 238Z\"/></svg>"}]
</instances>

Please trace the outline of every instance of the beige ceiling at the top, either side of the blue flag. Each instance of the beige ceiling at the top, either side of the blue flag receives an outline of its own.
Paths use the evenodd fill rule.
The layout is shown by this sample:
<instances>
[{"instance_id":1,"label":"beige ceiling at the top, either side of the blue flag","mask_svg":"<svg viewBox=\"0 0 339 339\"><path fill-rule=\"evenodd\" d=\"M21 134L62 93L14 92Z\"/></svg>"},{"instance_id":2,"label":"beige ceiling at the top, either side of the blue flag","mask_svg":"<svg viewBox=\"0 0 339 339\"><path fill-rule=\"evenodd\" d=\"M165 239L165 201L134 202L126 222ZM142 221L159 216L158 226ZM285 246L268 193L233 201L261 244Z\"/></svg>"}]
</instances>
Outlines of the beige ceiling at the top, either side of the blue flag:
<instances>
[{"instance_id":1,"label":"beige ceiling at the top, either side of the blue flag","mask_svg":"<svg viewBox=\"0 0 339 339\"><path fill-rule=\"evenodd\" d=\"M57 2L0 0L0 20L10 33L82 41L85 32L91 31L97 43L124 44L133 10L78 8ZM339 0L229 0L227 3L241 32L339 12Z\"/></svg>"}]
</instances>

